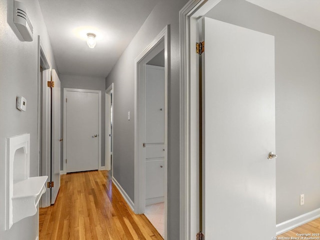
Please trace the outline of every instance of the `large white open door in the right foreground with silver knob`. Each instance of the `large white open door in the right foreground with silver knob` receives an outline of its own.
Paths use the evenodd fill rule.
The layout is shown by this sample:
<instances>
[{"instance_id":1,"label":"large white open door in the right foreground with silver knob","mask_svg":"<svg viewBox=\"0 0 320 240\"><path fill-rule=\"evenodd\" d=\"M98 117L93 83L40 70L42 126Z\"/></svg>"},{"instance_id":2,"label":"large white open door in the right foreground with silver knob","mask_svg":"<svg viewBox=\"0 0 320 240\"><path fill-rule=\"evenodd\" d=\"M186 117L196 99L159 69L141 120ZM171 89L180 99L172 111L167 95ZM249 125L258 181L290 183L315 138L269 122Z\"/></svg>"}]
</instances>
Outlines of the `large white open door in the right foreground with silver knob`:
<instances>
[{"instance_id":1,"label":"large white open door in the right foreground with silver knob","mask_svg":"<svg viewBox=\"0 0 320 240\"><path fill-rule=\"evenodd\" d=\"M203 26L204 24L204 26ZM274 37L204 18L205 239L275 237ZM202 65L202 66L203 66Z\"/></svg>"}]
</instances>

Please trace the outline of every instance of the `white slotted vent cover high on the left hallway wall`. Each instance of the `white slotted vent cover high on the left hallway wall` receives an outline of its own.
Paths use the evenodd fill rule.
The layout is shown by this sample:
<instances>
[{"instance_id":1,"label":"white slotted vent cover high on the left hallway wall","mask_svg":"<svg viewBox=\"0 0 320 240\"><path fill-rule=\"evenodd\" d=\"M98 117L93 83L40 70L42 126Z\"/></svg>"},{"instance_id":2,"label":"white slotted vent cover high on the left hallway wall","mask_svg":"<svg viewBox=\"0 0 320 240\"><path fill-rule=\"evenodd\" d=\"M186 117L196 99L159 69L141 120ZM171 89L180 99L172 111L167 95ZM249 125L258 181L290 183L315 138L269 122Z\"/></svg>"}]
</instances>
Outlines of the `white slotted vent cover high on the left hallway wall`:
<instances>
[{"instance_id":1,"label":"white slotted vent cover high on the left hallway wall","mask_svg":"<svg viewBox=\"0 0 320 240\"><path fill-rule=\"evenodd\" d=\"M26 7L19 1L14 1L13 22L24 41L33 40L33 27L28 17Z\"/></svg>"}]
</instances>

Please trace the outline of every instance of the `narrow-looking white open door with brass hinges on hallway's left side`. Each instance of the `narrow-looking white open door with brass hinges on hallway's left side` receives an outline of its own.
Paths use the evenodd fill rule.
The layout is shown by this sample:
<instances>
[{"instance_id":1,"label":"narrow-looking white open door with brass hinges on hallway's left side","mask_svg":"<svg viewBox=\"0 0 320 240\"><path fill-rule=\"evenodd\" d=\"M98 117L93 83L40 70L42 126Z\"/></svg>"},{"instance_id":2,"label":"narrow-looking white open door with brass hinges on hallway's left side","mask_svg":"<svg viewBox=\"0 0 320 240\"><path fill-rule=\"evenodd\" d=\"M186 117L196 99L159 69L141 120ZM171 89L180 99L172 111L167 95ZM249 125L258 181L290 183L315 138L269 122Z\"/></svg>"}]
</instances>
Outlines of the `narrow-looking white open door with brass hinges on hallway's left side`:
<instances>
[{"instance_id":1,"label":"narrow-looking white open door with brass hinges on hallway's left side","mask_svg":"<svg viewBox=\"0 0 320 240\"><path fill-rule=\"evenodd\" d=\"M54 186L51 188L51 204L54 204L56 196L60 188L60 159L61 159L61 87L60 80L55 70L52 69L52 81L54 81L54 87L52 87L52 135L51 135L51 182L54 182ZM61 139L61 140L60 140Z\"/></svg>"}]
</instances>

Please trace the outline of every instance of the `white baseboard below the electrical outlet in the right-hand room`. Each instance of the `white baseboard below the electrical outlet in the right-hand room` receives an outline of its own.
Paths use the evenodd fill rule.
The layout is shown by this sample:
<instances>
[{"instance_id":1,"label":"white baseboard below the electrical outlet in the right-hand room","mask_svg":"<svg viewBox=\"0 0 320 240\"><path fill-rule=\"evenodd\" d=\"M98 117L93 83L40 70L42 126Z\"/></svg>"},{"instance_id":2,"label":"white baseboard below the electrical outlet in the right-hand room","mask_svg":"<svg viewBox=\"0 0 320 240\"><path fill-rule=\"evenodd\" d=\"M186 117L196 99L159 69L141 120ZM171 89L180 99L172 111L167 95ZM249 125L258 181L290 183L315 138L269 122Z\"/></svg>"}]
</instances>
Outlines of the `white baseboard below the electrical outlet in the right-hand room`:
<instances>
[{"instance_id":1,"label":"white baseboard below the electrical outlet in the right-hand room","mask_svg":"<svg viewBox=\"0 0 320 240\"><path fill-rule=\"evenodd\" d=\"M283 234L317 218L320 218L320 209L316 209L306 214L302 214L296 218L289 219L276 225L276 235Z\"/></svg>"}]
</instances>

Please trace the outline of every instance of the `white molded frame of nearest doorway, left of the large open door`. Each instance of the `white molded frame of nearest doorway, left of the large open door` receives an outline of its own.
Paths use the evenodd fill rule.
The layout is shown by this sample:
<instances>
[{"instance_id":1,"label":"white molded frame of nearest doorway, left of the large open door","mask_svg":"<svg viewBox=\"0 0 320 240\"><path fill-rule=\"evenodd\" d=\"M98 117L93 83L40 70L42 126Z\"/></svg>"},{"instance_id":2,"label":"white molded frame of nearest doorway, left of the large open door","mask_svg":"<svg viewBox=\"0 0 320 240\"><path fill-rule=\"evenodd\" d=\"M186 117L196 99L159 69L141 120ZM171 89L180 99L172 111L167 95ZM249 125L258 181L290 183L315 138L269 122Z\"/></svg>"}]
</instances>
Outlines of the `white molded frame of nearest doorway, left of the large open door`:
<instances>
[{"instance_id":1,"label":"white molded frame of nearest doorway, left of the large open door","mask_svg":"<svg viewBox=\"0 0 320 240\"><path fill-rule=\"evenodd\" d=\"M180 240L199 231L198 70L196 20L221 0L189 0L179 11L180 36Z\"/></svg>"}]
</instances>

